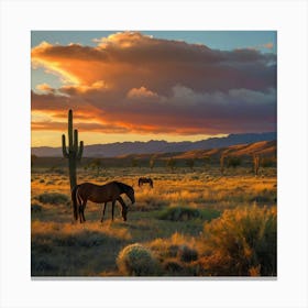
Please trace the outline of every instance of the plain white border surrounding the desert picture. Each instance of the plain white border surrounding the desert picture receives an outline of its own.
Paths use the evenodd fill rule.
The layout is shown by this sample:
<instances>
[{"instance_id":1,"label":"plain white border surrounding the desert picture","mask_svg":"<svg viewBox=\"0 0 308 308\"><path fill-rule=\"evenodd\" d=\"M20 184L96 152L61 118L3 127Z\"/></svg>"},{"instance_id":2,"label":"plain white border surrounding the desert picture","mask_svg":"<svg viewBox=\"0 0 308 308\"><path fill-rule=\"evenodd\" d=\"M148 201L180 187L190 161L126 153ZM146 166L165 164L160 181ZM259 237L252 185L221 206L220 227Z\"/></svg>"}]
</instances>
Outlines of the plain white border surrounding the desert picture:
<instances>
[{"instance_id":1,"label":"plain white border surrounding the desert picture","mask_svg":"<svg viewBox=\"0 0 308 308\"><path fill-rule=\"evenodd\" d=\"M277 280L31 280L30 31L278 31ZM306 1L1 1L1 307L307 307ZM8 206L10 205L10 206Z\"/></svg>"}]
</instances>

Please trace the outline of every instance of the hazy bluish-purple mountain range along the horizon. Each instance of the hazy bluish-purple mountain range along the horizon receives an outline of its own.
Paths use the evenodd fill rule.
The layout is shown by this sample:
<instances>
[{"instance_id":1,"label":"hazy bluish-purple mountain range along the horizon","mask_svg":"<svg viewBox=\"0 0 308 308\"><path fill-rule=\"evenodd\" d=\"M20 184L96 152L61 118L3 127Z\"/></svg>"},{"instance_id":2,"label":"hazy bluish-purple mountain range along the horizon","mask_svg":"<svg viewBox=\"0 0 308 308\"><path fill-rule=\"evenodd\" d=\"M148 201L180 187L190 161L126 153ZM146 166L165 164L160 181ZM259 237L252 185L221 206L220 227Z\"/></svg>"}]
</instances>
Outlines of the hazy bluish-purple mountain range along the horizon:
<instances>
[{"instance_id":1,"label":"hazy bluish-purple mountain range along the horizon","mask_svg":"<svg viewBox=\"0 0 308 308\"><path fill-rule=\"evenodd\" d=\"M189 151L205 151L211 148L235 146L239 144L251 144L255 142L275 141L277 139L276 132L267 133L248 133L248 134L230 134L226 138L210 138L202 141L185 141L185 142L166 142L151 140L148 142L117 142L110 144L94 144L86 145L84 150L84 157L119 157L131 154L163 154L163 153L180 153ZM235 147L234 147L235 148ZM241 151L249 151L244 147ZM197 152L196 152L197 153ZM31 154L41 157L59 157L62 156L62 147L32 147ZM179 155L188 155L179 154ZM201 154L200 154L201 155ZM205 153L202 153L205 155Z\"/></svg>"}]
</instances>

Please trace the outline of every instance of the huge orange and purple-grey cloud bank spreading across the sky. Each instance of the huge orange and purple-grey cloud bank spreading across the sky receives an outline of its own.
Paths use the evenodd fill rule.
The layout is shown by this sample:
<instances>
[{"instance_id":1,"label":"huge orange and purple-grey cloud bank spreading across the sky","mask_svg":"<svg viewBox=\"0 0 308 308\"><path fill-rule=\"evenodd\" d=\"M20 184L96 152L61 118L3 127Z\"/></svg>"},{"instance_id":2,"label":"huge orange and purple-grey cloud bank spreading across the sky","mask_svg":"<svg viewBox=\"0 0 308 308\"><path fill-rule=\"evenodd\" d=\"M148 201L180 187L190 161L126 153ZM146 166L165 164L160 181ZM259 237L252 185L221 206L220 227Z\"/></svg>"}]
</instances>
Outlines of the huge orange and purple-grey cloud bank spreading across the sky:
<instances>
[{"instance_id":1,"label":"huge orange and purple-grey cloud bank spreading across the sky","mask_svg":"<svg viewBox=\"0 0 308 308\"><path fill-rule=\"evenodd\" d=\"M78 128L119 133L221 134L276 129L276 56L221 52L136 32L97 40L96 47L42 43L32 64L61 76L32 92L33 130ZM270 47L270 45L267 45Z\"/></svg>"}]
</instances>

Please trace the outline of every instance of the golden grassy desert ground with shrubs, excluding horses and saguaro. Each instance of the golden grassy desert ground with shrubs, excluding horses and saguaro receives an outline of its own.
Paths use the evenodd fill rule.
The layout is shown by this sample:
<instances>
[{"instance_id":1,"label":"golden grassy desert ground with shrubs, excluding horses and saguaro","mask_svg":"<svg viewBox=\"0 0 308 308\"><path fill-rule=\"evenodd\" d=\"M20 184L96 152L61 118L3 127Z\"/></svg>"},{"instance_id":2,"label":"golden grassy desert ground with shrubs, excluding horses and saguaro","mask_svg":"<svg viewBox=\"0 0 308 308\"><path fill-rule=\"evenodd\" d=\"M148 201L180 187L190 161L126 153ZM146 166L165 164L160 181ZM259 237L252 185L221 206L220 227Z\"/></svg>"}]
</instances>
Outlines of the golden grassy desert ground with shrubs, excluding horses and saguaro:
<instances>
[{"instance_id":1,"label":"golden grassy desert ground with shrubs, excluding horses and saguaro","mask_svg":"<svg viewBox=\"0 0 308 308\"><path fill-rule=\"evenodd\" d=\"M46 164L47 165L47 164ZM138 186L151 177L154 187ZM74 221L66 166L32 166L31 271L40 276L276 276L276 168L78 167L78 183L119 180L135 204L88 202Z\"/></svg>"}]
</instances>

